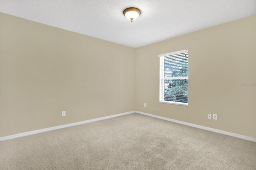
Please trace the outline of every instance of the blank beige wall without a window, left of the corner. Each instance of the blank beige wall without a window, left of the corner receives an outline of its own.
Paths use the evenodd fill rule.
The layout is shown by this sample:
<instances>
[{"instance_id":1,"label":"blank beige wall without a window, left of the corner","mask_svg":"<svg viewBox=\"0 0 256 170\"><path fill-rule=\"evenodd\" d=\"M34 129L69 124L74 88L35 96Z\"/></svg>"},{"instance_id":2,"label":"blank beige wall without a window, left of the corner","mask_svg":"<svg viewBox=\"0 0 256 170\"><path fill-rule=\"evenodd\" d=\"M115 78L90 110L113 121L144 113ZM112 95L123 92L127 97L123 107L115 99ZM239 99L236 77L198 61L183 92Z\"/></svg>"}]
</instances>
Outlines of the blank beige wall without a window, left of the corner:
<instances>
[{"instance_id":1,"label":"blank beige wall without a window, left of the corner","mask_svg":"<svg viewBox=\"0 0 256 170\"><path fill-rule=\"evenodd\" d=\"M1 137L134 109L135 49L0 14Z\"/></svg>"}]
</instances>

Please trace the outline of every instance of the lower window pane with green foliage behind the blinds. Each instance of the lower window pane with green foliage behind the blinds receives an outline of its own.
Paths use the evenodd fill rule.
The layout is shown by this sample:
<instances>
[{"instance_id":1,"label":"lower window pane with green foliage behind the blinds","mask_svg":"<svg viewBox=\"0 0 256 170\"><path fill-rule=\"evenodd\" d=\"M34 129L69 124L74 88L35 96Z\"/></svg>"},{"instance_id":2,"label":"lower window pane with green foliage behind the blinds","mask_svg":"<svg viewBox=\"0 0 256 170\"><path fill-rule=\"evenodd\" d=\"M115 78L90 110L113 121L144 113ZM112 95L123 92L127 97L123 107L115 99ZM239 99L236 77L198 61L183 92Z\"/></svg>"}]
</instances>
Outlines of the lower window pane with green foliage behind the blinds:
<instances>
[{"instance_id":1,"label":"lower window pane with green foliage behind the blinds","mask_svg":"<svg viewBox=\"0 0 256 170\"><path fill-rule=\"evenodd\" d=\"M164 80L164 100L188 103L188 79Z\"/></svg>"}]
</instances>

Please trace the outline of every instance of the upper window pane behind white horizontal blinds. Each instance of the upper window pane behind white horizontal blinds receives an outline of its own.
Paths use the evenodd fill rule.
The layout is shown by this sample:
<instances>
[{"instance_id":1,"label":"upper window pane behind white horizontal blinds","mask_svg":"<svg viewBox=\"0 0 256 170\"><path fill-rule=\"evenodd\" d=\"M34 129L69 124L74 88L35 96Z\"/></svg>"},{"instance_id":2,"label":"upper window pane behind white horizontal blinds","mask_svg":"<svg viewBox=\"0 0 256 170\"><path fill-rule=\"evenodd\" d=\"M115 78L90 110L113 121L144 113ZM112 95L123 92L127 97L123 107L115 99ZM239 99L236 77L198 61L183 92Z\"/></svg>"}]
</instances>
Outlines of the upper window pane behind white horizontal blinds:
<instances>
[{"instance_id":1,"label":"upper window pane behind white horizontal blinds","mask_svg":"<svg viewBox=\"0 0 256 170\"><path fill-rule=\"evenodd\" d=\"M188 53L164 58L164 77L187 77Z\"/></svg>"}]
</instances>

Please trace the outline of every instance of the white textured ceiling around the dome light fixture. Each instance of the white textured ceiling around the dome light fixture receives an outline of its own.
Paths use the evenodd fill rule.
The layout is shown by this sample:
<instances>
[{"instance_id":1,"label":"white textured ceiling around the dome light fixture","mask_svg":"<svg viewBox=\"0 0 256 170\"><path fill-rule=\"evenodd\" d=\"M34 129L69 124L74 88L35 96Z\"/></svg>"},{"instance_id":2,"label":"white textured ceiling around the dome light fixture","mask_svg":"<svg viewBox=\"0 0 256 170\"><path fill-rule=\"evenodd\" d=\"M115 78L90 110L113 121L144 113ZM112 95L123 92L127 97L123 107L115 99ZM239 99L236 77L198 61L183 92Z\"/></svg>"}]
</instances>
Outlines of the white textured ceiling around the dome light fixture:
<instances>
[{"instance_id":1,"label":"white textured ceiling around the dome light fixture","mask_svg":"<svg viewBox=\"0 0 256 170\"><path fill-rule=\"evenodd\" d=\"M130 22L127 7L141 16ZM256 14L256 0L0 0L0 12L141 47Z\"/></svg>"}]
</instances>

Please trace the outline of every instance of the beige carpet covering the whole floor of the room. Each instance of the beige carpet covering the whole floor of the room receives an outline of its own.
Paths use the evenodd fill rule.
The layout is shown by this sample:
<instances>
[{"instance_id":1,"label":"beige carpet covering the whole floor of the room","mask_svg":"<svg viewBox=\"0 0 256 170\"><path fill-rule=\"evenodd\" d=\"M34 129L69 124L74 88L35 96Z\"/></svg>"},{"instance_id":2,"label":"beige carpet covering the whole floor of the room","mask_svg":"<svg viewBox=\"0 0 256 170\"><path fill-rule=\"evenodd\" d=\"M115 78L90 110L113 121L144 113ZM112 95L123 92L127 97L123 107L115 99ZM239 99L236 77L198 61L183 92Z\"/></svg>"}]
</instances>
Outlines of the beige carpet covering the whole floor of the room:
<instances>
[{"instance_id":1,"label":"beige carpet covering the whole floor of the room","mask_svg":"<svg viewBox=\"0 0 256 170\"><path fill-rule=\"evenodd\" d=\"M0 142L1 170L255 170L256 143L140 114Z\"/></svg>"}]
</instances>

